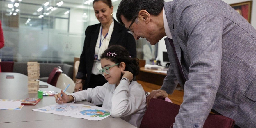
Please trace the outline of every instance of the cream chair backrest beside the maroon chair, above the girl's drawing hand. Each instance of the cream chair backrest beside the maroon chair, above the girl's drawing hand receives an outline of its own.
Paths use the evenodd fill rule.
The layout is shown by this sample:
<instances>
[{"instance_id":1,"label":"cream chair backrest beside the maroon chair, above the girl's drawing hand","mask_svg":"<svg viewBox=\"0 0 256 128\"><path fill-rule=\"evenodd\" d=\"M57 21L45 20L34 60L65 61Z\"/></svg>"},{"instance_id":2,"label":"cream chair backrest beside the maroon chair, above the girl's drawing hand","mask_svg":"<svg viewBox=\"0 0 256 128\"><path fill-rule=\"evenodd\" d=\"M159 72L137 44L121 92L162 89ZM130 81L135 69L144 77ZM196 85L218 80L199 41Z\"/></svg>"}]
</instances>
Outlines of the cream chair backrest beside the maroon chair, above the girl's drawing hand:
<instances>
[{"instance_id":1,"label":"cream chair backrest beside the maroon chair, above the girl's drawing hand","mask_svg":"<svg viewBox=\"0 0 256 128\"><path fill-rule=\"evenodd\" d=\"M70 84L70 86L67 88L66 92L73 93L73 91L75 90L75 82L65 73L62 73L58 78L56 87L64 90L68 84Z\"/></svg>"}]
</instances>

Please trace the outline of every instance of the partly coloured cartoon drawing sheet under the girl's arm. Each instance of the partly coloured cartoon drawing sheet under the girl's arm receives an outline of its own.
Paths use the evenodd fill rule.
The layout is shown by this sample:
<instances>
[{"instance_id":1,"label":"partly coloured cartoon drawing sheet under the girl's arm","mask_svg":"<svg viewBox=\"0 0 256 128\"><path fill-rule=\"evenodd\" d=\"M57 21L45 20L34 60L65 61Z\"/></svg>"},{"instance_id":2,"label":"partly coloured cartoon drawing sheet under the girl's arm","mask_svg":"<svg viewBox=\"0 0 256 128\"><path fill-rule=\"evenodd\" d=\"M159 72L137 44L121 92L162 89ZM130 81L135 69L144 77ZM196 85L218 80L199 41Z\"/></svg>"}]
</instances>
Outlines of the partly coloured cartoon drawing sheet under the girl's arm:
<instances>
[{"instance_id":1,"label":"partly coloured cartoon drawing sheet under the girl's arm","mask_svg":"<svg viewBox=\"0 0 256 128\"><path fill-rule=\"evenodd\" d=\"M110 112L101 107L74 103L54 104L39 109L33 109L33 111L53 113L88 120L102 120L110 116Z\"/></svg>"}]
</instances>

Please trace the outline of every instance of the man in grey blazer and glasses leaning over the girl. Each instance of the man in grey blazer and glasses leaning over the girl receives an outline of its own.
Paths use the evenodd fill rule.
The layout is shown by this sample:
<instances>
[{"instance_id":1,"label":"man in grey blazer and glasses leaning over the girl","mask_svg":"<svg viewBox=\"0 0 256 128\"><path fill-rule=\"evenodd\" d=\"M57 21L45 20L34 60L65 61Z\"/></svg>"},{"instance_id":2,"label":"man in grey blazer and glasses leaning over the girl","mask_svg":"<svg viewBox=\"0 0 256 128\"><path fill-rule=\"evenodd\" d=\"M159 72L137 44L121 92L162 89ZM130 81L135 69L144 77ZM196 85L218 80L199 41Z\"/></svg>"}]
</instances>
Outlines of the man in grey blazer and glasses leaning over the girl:
<instances>
[{"instance_id":1,"label":"man in grey blazer and glasses leaning over the girl","mask_svg":"<svg viewBox=\"0 0 256 128\"><path fill-rule=\"evenodd\" d=\"M171 64L147 102L167 97L179 83L184 98L173 128L201 128L211 109L236 127L256 127L256 30L227 3L122 0L117 19L136 40L155 45L168 37Z\"/></svg>"}]
</instances>

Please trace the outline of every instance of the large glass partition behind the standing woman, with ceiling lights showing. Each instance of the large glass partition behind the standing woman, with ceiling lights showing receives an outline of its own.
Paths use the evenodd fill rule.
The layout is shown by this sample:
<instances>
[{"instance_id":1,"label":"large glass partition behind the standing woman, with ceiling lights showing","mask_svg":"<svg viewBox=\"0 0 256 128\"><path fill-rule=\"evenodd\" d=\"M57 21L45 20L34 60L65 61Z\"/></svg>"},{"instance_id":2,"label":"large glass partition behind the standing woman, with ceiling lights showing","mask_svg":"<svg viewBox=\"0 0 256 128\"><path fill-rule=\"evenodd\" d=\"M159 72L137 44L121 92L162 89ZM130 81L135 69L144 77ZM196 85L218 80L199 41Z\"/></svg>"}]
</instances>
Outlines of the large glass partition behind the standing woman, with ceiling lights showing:
<instances>
[{"instance_id":1,"label":"large glass partition behind the standing woman, with ceiling lights showing","mask_svg":"<svg viewBox=\"0 0 256 128\"><path fill-rule=\"evenodd\" d=\"M70 63L80 57L84 31L99 23L87 0L0 0L5 46L2 61ZM113 17L120 0L112 1ZM146 40L137 41L138 58L143 59ZM72 64L73 65L73 64Z\"/></svg>"}]
</instances>

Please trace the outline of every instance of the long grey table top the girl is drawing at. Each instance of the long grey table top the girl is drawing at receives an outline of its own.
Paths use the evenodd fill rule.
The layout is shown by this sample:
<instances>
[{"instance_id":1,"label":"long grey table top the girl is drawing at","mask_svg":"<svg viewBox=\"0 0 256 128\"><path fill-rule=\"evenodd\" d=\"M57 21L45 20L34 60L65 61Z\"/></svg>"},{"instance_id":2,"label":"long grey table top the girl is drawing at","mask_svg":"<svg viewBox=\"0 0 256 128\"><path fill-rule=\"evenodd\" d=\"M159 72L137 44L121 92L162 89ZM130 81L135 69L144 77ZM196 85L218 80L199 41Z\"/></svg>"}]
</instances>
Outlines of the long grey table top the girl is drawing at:
<instances>
[{"instance_id":1,"label":"long grey table top the girl is drawing at","mask_svg":"<svg viewBox=\"0 0 256 128\"><path fill-rule=\"evenodd\" d=\"M14 75L14 78L6 78ZM47 84L40 81L39 84ZM26 99L36 98L37 93L28 93L28 77L20 73L0 73L0 99ZM61 89L47 84L48 88L39 88L43 91L60 92ZM68 94L68 93L67 93ZM93 105L87 101L76 102L79 104ZM109 116L99 121L74 118L63 115L32 111L49 105L56 104L54 96L44 96L37 105L24 105L21 110L0 110L0 127L37 127L63 128L63 127L104 127L104 128L136 128L121 118Z\"/></svg>"}]
</instances>

